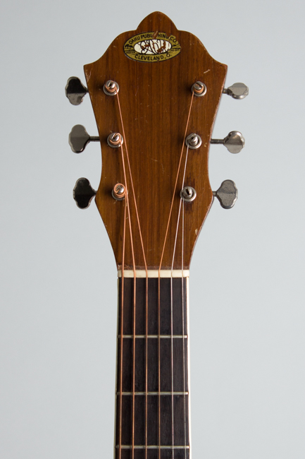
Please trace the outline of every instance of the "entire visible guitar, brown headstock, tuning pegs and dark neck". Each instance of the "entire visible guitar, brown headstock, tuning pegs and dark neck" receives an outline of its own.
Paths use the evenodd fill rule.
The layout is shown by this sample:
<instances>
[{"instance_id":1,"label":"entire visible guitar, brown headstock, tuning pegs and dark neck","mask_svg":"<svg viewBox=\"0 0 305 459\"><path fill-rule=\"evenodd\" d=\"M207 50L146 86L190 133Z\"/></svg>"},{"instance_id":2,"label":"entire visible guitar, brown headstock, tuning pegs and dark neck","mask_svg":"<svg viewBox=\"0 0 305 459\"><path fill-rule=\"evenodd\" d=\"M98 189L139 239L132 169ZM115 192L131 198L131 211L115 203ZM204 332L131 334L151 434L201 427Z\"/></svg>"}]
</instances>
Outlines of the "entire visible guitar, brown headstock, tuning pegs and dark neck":
<instances>
[{"instance_id":1,"label":"entire visible guitar, brown headstock, tuning pegs and dark neck","mask_svg":"<svg viewBox=\"0 0 305 459\"><path fill-rule=\"evenodd\" d=\"M237 199L231 180L211 190L208 148L244 146L238 131L211 138L223 93L248 94L224 88L226 71L156 12L85 65L87 87L66 85L73 105L89 93L99 131L74 126L73 152L90 141L102 151L99 188L81 178L73 196L80 208L95 196L118 268L116 459L190 456L189 265L213 199L226 209Z\"/></svg>"}]
</instances>

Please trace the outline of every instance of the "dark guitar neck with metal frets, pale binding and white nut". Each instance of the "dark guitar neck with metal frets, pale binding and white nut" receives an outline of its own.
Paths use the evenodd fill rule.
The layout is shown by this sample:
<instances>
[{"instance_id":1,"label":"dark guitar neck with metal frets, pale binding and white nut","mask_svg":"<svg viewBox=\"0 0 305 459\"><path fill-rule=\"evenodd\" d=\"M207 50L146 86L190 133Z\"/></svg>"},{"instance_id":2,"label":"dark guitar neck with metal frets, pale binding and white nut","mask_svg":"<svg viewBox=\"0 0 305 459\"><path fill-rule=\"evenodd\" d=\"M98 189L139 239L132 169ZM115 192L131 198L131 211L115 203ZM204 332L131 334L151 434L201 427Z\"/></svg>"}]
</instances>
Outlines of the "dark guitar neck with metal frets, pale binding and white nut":
<instances>
[{"instance_id":1,"label":"dark guitar neck with metal frets, pale binding and white nut","mask_svg":"<svg viewBox=\"0 0 305 459\"><path fill-rule=\"evenodd\" d=\"M117 459L189 458L188 271L164 275L118 280Z\"/></svg>"}]
</instances>

